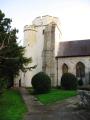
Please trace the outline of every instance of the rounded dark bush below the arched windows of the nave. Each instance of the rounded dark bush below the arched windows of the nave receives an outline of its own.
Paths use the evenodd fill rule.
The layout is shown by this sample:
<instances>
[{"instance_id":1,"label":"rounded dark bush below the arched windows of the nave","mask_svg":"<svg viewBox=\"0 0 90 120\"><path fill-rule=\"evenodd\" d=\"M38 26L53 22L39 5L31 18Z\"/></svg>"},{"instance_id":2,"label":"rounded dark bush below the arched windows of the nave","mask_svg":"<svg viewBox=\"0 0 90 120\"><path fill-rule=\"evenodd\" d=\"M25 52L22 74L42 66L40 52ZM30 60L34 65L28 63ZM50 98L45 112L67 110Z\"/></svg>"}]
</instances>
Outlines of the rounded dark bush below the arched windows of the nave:
<instances>
[{"instance_id":1,"label":"rounded dark bush below the arched windows of the nave","mask_svg":"<svg viewBox=\"0 0 90 120\"><path fill-rule=\"evenodd\" d=\"M77 89L77 78L72 73L64 73L61 77L61 87L67 90Z\"/></svg>"}]
</instances>

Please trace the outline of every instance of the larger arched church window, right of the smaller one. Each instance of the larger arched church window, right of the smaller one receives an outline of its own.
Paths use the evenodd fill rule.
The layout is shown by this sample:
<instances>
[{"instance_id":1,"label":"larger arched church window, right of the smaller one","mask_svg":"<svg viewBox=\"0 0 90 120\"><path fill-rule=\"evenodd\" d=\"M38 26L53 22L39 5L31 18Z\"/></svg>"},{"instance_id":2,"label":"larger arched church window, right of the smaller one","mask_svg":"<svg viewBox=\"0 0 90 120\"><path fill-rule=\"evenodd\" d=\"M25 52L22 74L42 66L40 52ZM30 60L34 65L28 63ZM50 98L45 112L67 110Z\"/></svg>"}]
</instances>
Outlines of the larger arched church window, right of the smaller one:
<instances>
[{"instance_id":1,"label":"larger arched church window, right of the smaller one","mask_svg":"<svg viewBox=\"0 0 90 120\"><path fill-rule=\"evenodd\" d=\"M76 76L80 78L85 77L85 65L82 62L76 64Z\"/></svg>"}]
</instances>

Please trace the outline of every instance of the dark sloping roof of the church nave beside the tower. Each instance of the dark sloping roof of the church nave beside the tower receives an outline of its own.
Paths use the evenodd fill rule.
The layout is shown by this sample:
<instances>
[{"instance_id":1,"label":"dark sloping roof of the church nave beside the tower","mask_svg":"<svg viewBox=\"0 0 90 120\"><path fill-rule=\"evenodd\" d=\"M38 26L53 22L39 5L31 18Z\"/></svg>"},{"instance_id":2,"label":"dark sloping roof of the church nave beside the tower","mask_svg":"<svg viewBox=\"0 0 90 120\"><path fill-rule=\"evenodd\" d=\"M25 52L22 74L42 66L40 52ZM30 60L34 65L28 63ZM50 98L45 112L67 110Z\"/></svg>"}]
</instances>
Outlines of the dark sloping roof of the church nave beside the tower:
<instances>
[{"instance_id":1,"label":"dark sloping roof of the church nave beside the tower","mask_svg":"<svg viewBox=\"0 0 90 120\"><path fill-rule=\"evenodd\" d=\"M56 58L90 56L90 39L60 42Z\"/></svg>"}]
</instances>

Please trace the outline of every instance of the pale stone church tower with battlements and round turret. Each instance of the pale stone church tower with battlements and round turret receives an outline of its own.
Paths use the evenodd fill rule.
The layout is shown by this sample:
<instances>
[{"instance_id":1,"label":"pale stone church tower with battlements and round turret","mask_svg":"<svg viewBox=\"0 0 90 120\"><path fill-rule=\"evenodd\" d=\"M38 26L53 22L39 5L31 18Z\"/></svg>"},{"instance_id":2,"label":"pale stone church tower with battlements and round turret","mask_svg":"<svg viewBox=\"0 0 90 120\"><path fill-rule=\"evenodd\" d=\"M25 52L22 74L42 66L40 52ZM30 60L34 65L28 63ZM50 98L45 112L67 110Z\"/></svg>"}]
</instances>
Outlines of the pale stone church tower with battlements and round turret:
<instances>
[{"instance_id":1,"label":"pale stone church tower with battlements and round turret","mask_svg":"<svg viewBox=\"0 0 90 120\"><path fill-rule=\"evenodd\" d=\"M32 57L28 67L36 65L32 71L21 73L21 85L31 86L32 77L43 71L51 78L52 86L56 83L55 54L57 41L60 39L59 19L49 15L37 17L32 25L24 27L25 56Z\"/></svg>"}]
</instances>

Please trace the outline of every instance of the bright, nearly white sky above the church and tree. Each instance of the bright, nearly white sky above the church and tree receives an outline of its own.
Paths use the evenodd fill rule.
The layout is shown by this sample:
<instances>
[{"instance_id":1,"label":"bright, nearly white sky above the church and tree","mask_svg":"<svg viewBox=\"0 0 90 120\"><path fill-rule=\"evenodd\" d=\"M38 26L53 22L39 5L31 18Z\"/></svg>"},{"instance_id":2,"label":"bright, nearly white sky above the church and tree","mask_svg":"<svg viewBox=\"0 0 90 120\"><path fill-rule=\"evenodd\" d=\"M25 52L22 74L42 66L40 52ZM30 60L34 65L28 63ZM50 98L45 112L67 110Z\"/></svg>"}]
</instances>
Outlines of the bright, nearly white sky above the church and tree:
<instances>
[{"instance_id":1,"label":"bright, nearly white sky above the church and tree","mask_svg":"<svg viewBox=\"0 0 90 120\"><path fill-rule=\"evenodd\" d=\"M0 9L19 30L18 42L24 26L43 15L59 18L61 41L90 39L90 0L0 0Z\"/></svg>"}]
</instances>

